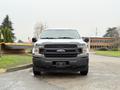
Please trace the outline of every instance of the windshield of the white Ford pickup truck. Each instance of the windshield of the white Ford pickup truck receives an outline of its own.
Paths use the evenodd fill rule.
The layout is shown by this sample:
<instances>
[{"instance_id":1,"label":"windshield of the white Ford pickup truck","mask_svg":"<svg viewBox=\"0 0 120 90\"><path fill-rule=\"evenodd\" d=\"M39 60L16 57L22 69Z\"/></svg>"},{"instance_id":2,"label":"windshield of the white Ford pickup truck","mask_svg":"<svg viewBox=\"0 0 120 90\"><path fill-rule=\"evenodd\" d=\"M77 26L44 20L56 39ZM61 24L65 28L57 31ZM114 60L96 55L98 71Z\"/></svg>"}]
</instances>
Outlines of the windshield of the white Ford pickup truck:
<instances>
[{"instance_id":1,"label":"windshield of the white Ford pickup truck","mask_svg":"<svg viewBox=\"0 0 120 90\"><path fill-rule=\"evenodd\" d=\"M80 35L77 30L45 30L41 33L41 39L80 39Z\"/></svg>"}]
</instances>

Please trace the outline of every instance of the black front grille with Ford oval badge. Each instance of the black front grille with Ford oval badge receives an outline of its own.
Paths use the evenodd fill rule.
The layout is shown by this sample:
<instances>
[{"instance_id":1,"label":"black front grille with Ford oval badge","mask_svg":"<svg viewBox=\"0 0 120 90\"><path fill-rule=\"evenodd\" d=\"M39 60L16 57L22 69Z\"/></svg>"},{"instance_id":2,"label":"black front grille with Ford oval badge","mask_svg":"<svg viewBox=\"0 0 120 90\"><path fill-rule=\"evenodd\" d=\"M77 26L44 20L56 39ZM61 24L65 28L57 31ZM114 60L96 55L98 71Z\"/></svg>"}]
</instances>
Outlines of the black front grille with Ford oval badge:
<instances>
[{"instance_id":1,"label":"black front grille with Ford oval badge","mask_svg":"<svg viewBox=\"0 0 120 90\"><path fill-rule=\"evenodd\" d=\"M59 50L61 50L59 52ZM75 44L47 44L44 46L44 56L47 58L77 57L79 50Z\"/></svg>"}]
</instances>

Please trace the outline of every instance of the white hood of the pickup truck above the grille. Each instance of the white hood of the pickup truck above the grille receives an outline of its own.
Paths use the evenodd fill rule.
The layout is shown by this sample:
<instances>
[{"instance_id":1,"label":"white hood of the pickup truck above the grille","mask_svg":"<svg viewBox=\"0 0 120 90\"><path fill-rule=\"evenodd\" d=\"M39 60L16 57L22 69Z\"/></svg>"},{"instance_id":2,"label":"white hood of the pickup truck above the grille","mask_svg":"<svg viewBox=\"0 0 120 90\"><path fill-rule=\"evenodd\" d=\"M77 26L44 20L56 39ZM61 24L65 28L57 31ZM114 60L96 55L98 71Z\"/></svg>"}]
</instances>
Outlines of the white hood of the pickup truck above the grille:
<instances>
[{"instance_id":1,"label":"white hood of the pickup truck above the grille","mask_svg":"<svg viewBox=\"0 0 120 90\"><path fill-rule=\"evenodd\" d=\"M86 44L82 39L39 39L35 44Z\"/></svg>"}]
</instances>

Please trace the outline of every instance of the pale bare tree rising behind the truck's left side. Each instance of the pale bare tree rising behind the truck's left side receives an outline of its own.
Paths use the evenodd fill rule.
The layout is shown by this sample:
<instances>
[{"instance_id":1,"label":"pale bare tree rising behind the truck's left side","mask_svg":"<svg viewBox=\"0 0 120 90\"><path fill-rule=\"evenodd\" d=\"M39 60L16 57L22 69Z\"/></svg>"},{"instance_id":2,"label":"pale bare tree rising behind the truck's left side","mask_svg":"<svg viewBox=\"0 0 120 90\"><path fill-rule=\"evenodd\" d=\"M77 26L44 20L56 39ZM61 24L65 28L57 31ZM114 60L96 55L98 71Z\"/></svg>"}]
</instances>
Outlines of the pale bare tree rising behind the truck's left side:
<instances>
[{"instance_id":1,"label":"pale bare tree rising behind the truck's left side","mask_svg":"<svg viewBox=\"0 0 120 90\"><path fill-rule=\"evenodd\" d=\"M34 37L40 38L40 33L47 28L46 24L43 23L36 23L35 25L35 31L34 31Z\"/></svg>"}]
</instances>

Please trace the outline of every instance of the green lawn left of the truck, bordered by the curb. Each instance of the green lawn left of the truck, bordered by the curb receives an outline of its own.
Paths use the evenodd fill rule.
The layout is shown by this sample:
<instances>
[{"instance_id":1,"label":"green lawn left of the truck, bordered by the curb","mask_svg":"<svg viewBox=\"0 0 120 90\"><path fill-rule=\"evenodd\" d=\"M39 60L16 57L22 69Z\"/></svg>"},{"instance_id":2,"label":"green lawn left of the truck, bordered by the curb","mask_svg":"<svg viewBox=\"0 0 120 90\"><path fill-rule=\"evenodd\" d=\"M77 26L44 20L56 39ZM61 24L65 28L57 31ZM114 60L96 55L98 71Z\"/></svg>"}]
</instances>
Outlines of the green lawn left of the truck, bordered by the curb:
<instances>
[{"instance_id":1,"label":"green lawn left of the truck, bordered by the curb","mask_svg":"<svg viewBox=\"0 0 120 90\"><path fill-rule=\"evenodd\" d=\"M0 68L11 68L23 64L32 63L30 55L3 55L0 57Z\"/></svg>"}]
</instances>

